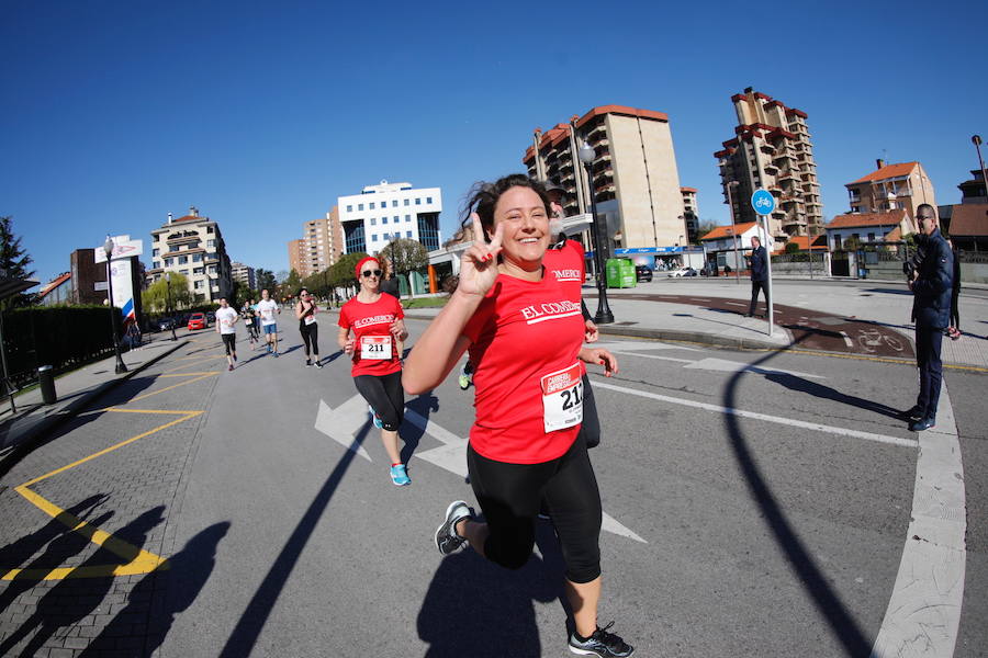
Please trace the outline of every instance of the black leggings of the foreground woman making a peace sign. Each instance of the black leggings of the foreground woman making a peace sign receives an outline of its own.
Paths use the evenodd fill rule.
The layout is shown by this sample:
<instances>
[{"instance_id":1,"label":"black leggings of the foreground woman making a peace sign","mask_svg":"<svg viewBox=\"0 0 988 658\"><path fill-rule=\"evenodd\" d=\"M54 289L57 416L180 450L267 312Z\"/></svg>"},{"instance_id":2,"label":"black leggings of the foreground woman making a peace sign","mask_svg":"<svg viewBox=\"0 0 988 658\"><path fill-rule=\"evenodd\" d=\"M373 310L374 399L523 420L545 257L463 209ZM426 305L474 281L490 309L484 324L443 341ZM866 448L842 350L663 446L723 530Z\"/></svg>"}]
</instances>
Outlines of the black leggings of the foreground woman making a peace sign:
<instances>
[{"instance_id":1,"label":"black leggings of the foreground woman making a peace sign","mask_svg":"<svg viewBox=\"0 0 988 658\"><path fill-rule=\"evenodd\" d=\"M541 464L495 462L467 449L473 494L491 532L484 542L487 559L520 569L535 545L535 519L544 499L571 582L590 582L600 575L600 492L577 436L566 453Z\"/></svg>"}]
</instances>

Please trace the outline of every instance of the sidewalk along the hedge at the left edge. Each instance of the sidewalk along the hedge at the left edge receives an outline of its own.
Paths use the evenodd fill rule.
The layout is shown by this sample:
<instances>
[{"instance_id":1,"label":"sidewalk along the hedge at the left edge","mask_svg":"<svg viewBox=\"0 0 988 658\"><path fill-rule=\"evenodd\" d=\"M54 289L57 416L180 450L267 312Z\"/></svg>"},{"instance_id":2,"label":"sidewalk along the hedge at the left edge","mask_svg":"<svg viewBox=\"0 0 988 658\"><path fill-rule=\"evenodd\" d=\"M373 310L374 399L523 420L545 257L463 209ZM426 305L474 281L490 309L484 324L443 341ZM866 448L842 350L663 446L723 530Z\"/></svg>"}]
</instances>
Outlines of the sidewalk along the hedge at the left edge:
<instances>
[{"instance_id":1,"label":"sidewalk along the hedge at the left edge","mask_svg":"<svg viewBox=\"0 0 988 658\"><path fill-rule=\"evenodd\" d=\"M57 377L55 393L58 401L54 405L43 404L41 388L15 396L15 413L11 412L9 399L0 401L0 475L19 458L19 454L30 451L97 398L189 342L181 339L172 341L165 336L158 334L153 342L125 352L122 358L127 366L126 373L115 373L116 358L111 356Z\"/></svg>"}]
</instances>

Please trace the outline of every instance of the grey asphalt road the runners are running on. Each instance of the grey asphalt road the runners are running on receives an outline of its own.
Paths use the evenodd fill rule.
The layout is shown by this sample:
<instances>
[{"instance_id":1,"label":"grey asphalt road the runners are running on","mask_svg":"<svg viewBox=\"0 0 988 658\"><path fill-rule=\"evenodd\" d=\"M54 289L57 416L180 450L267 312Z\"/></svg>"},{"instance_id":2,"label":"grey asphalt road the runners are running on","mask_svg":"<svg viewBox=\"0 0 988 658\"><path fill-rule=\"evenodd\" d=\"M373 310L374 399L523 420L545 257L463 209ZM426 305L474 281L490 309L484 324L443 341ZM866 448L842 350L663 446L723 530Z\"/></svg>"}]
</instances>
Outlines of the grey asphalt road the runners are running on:
<instances>
[{"instance_id":1,"label":"grey asphalt road the runners are running on","mask_svg":"<svg viewBox=\"0 0 988 658\"><path fill-rule=\"evenodd\" d=\"M20 644L7 646L21 650L35 634L34 646L90 656L569 655L550 524L517 572L469 549L441 558L433 544L449 501L473 500L458 462L471 392L451 376L406 400L424 420L403 426L413 484L394 487L348 363L330 349L333 321L322 324L322 371L303 367L293 327L277 360L240 340L234 372L221 370L218 338L203 332L102 400L114 410L83 415L19 464L3 484L137 438L31 489L170 568L14 580L0 592L0 642L13 635ZM424 327L411 321L413 338ZM868 655L913 508L917 435L894 413L912 402L914 371L606 344L621 372L593 375L604 440L591 455L610 520L602 622L616 620L641 656ZM954 655L980 656L986 375L946 377L968 520ZM0 495L0 567L122 561L13 489Z\"/></svg>"}]
</instances>

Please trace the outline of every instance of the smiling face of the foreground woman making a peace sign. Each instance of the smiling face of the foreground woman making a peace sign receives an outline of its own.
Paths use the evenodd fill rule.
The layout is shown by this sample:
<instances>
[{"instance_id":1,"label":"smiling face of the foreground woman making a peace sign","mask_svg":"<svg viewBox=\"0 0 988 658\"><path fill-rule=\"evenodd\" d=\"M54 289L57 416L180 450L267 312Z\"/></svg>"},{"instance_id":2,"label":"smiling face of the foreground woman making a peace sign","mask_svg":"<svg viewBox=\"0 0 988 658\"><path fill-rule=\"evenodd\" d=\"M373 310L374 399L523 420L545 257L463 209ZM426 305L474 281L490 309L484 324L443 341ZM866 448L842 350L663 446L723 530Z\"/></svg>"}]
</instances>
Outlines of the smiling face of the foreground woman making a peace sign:
<instances>
[{"instance_id":1,"label":"smiling face of the foreground woman making a peace sign","mask_svg":"<svg viewBox=\"0 0 988 658\"><path fill-rule=\"evenodd\" d=\"M502 194L494 206L495 229L498 224L503 225L506 260L526 270L541 264L549 247L549 214L534 190L516 186Z\"/></svg>"}]
</instances>

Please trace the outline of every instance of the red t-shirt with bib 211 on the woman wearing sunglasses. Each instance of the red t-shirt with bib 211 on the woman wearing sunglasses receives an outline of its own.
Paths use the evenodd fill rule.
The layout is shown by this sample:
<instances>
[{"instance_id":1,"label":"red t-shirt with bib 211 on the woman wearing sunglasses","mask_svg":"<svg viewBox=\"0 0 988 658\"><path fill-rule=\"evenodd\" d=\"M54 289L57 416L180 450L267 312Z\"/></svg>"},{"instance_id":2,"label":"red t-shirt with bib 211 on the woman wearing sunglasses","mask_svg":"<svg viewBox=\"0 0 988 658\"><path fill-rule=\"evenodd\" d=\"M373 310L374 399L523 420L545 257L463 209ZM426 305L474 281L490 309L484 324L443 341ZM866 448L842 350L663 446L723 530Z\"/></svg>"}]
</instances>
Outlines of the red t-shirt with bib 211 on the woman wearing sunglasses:
<instances>
[{"instance_id":1,"label":"red t-shirt with bib 211 on the woman wearing sunglasses","mask_svg":"<svg viewBox=\"0 0 988 658\"><path fill-rule=\"evenodd\" d=\"M404 318L402 305L391 295L382 294L371 304L353 297L339 309L339 326L352 329L357 337L353 347L353 366L350 374L390 375L402 370L397 341L391 333L391 324Z\"/></svg>"}]
</instances>

